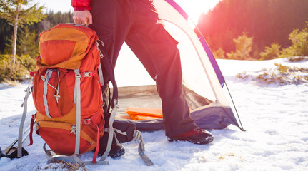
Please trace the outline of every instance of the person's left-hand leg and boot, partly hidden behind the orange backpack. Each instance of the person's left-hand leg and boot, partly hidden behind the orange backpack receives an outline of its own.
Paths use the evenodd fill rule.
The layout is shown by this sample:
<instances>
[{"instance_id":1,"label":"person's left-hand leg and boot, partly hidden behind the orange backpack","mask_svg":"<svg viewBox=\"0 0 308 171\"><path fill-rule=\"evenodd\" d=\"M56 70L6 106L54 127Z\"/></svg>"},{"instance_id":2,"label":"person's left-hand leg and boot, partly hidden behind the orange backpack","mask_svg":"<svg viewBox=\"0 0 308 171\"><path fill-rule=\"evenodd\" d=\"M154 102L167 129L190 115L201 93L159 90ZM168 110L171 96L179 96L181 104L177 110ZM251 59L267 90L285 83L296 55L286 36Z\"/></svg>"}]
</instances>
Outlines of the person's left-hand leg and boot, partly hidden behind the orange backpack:
<instances>
[{"instance_id":1,"label":"person's left-hand leg and boot, partly hidden behind the orange backpack","mask_svg":"<svg viewBox=\"0 0 308 171\"><path fill-rule=\"evenodd\" d=\"M113 68L116 65L116 59L119 55L122 44L131 26L131 8L126 0L91 0L91 14L93 17L93 24L90 28L96 31L99 39L104 42L103 51L107 53L104 58L109 58ZM109 78L104 72L105 83L109 82ZM106 98L107 87L104 86L104 101L108 102ZM109 111L107 106L104 106L106 125L108 125ZM108 141L108 134L105 133L101 138L99 144L99 155L103 155L106 151ZM109 156L119 157L124 155L125 150L122 146L113 144Z\"/></svg>"}]
</instances>

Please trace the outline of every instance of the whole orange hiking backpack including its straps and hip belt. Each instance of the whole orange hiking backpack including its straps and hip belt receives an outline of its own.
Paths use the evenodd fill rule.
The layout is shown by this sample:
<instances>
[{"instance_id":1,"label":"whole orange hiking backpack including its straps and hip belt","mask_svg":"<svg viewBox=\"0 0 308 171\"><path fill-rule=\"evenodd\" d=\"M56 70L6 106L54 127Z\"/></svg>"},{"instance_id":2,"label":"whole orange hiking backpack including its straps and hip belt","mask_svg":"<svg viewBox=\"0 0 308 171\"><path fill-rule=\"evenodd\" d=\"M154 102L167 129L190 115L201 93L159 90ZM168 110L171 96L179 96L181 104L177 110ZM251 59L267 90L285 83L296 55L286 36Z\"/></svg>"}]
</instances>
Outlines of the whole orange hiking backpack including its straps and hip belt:
<instances>
[{"instance_id":1,"label":"whole orange hiking backpack including its straps and hip belt","mask_svg":"<svg viewBox=\"0 0 308 171\"><path fill-rule=\"evenodd\" d=\"M33 86L26 89L24 98L17 157L23 155L26 104L29 95L33 93L37 112L32 115L29 127L29 145L33 143L31 134L36 120L36 133L45 140L44 150L51 162L108 165L109 162L105 160L112 144L120 145L120 142L135 139L140 140L138 153L141 159L146 165L153 165L144 154L144 140L140 131L136 130L136 125L115 120L119 105L114 71L102 48L104 43L98 41L93 30L74 24L58 24L40 34L40 55L36 59L36 72L32 73ZM99 44L102 46L98 47ZM112 98L109 91L110 99L106 101L101 92L101 85L104 85L103 68L113 85ZM104 103L108 103L104 106L106 111L103 110ZM108 120L106 125L105 119ZM106 142L106 151L96 161L100 140ZM46 144L51 150L46 149ZM94 150L95 147L91 162L83 162L76 156Z\"/></svg>"}]
</instances>

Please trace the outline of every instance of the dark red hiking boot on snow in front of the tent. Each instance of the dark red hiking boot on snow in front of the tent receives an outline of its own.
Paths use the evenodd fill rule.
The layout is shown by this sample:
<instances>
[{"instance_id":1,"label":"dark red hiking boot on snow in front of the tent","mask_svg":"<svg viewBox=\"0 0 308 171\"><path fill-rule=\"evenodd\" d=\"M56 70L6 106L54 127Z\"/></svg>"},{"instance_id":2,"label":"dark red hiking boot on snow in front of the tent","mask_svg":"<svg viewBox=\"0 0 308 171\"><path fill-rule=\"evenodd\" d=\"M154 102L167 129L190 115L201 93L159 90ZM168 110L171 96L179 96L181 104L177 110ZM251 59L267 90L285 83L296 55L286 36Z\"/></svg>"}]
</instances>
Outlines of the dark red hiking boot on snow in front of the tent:
<instances>
[{"instance_id":1,"label":"dark red hiking boot on snow in front of the tent","mask_svg":"<svg viewBox=\"0 0 308 171\"><path fill-rule=\"evenodd\" d=\"M204 145L208 144L209 142L212 142L214 140L214 137L212 133L209 133L209 131L199 127L195 127L192 128L192 130L187 131L186 133L182 133L176 136L170 136L168 137L168 140L171 142L173 140L182 140L189 141L194 144Z\"/></svg>"}]
</instances>

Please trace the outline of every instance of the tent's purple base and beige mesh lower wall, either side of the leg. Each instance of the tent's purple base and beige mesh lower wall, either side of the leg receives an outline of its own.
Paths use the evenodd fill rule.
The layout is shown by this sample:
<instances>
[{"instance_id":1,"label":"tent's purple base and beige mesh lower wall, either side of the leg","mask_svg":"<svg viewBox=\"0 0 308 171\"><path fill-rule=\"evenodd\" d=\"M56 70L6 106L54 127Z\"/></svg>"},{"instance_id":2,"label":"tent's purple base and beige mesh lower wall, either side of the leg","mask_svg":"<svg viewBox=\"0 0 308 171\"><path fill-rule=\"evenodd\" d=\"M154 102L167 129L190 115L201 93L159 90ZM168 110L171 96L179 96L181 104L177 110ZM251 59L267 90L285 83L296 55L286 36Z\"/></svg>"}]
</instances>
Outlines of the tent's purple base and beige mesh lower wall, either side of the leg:
<instances>
[{"instance_id":1,"label":"tent's purple base and beige mesh lower wall, either side of the leg","mask_svg":"<svg viewBox=\"0 0 308 171\"><path fill-rule=\"evenodd\" d=\"M189 104L194 104L194 106L190 105L189 108L192 109L192 119L195 120L197 126L200 128L223 129L230 124L239 126L231 108L222 107L216 102L204 99L187 88L183 88L183 90L184 92L188 90L188 94L194 97L188 99L187 102ZM129 115L126 114L126 106L141 104L142 108L159 108L161 101L155 86L120 87L119 104L121 105L118 110L118 115L116 116L117 121L134 123L136 124L136 129L141 131L164 129L163 119L132 120L129 118Z\"/></svg>"}]
</instances>

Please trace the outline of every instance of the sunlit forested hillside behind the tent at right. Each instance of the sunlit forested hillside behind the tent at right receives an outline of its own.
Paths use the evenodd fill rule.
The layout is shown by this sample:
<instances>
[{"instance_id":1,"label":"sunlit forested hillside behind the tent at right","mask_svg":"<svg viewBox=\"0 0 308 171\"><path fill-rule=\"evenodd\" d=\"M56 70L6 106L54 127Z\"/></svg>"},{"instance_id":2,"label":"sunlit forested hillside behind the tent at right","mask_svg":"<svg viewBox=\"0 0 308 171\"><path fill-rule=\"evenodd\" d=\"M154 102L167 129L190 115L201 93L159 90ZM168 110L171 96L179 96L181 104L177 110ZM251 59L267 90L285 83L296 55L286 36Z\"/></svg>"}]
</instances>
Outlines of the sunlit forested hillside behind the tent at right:
<instances>
[{"instance_id":1,"label":"sunlit forested hillside behind the tent at right","mask_svg":"<svg viewBox=\"0 0 308 171\"><path fill-rule=\"evenodd\" d=\"M199 18L198 27L212 51L236 51L234 38L252 38L251 58L275 43L281 48L292 45L289 34L303 29L308 21L307 0L222 0ZM308 40L307 40L308 41ZM222 55L222 52L224 55Z\"/></svg>"}]
</instances>

